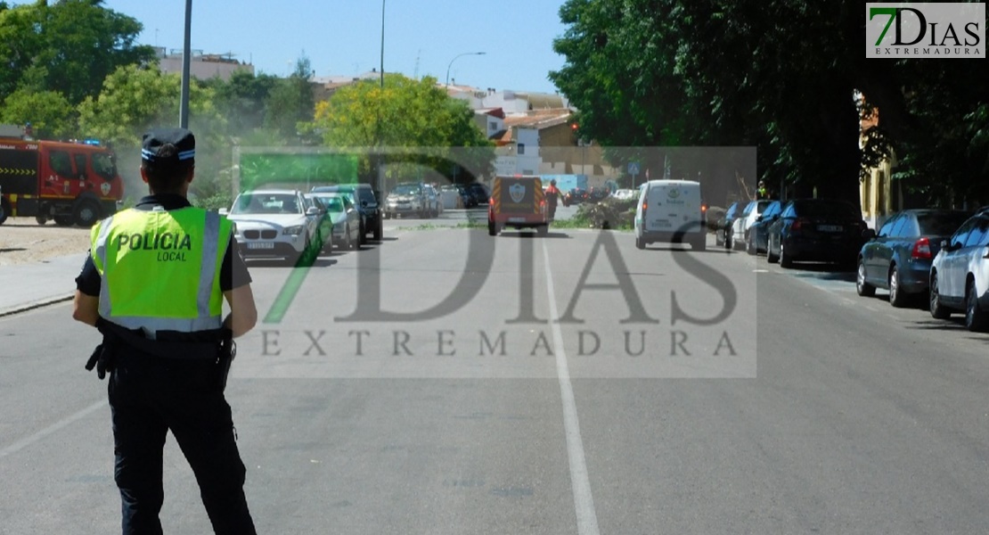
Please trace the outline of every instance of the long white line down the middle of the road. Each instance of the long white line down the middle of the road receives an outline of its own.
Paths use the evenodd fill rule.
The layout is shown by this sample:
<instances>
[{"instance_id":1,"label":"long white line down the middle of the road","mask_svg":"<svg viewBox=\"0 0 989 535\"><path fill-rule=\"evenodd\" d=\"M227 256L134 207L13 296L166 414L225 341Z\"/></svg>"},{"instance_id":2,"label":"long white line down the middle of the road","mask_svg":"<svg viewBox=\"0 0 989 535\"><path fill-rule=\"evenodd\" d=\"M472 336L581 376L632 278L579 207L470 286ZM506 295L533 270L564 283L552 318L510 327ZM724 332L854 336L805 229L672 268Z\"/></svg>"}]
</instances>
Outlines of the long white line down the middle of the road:
<instances>
[{"instance_id":1,"label":"long white line down the middle of the road","mask_svg":"<svg viewBox=\"0 0 989 535\"><path fill-rule=\"evenodd\" d=\"M550 300L550 322L553 325L553 347L556 354L557 378L560 381L560 397L563 399L563 427L567 435L567 457L570 460L570 483L574 490L574 509L577 512L577 532L580 535L598 535L597 512L594 497L590 493L587 462L584 459L584 439L581 438L581 422L577 417L574 387L570 382L570 367L563 347L563 331L560 329L556 293L553 291L553 273L550 270L550 254L546 241L542 240L543 259L546 266L546 293Z\"/></svg>"}]
</instances>

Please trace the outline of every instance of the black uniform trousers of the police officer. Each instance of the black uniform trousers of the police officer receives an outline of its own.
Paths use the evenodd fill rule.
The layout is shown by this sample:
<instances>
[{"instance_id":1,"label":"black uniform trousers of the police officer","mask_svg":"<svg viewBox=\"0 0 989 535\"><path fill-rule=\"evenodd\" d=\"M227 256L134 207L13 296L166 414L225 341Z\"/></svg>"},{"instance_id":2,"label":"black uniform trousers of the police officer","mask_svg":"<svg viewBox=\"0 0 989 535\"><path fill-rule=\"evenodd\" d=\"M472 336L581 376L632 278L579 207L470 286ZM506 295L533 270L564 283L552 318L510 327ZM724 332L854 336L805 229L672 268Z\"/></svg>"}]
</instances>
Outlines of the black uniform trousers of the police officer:
<instances>
[{"instance_id":1,"label":"black uniform trousers of the police officer","mask_svg":"<svg viewBox=\"0 0 989 535\"><path fill-rule=\"evenodd\" d=\"M243 485L230 405L215 364L163 359L121 347L108 385L113 414L114 479L124 535L162 533L162 450L172 431L199 483L218 535L256 533Z\"/></svg>"}]
</instances>

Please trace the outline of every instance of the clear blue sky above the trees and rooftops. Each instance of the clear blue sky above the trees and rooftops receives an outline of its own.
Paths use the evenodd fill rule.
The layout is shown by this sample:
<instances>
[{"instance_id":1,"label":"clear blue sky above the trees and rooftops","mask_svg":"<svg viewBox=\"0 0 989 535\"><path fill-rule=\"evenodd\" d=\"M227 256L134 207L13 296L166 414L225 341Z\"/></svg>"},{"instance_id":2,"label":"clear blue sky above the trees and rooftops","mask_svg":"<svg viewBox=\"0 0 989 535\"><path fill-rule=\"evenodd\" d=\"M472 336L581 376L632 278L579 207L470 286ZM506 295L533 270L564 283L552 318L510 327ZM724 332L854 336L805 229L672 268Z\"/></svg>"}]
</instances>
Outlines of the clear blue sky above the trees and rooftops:
<instances>
[{"instance_id":1,"label":"clear blue sky above the trees and rooftops","mask_svg":"<svg viewBox=\"0 0 989 535\"><path fill-rule=\"evenodd\" d=\"M417 69L442 83L450 67L451 83L557 91L547 74L564 65L553 51L564 34L563 0L195 0L191 47L232 52L255 73L288 75L304 55L316 76L363 73L381 63L383 4L385 72L412 77ZM184 1L104 0L104 7L143 24L139 44L181 50ZM475 51L486 53L454 60Z\"/></svg>"}]
</instances>

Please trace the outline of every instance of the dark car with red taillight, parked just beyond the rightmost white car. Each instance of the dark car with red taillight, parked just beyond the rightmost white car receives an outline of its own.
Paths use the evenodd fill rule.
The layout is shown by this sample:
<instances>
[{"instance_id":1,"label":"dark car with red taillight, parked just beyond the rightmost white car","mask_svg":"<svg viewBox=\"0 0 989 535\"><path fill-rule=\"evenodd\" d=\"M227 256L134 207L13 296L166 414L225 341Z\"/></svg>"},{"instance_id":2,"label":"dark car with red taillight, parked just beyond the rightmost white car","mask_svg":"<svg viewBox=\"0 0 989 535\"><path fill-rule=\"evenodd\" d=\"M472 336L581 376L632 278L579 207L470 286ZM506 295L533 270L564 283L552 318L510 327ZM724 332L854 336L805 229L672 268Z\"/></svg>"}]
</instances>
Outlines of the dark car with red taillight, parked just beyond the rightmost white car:
<instances>
[{"instance_id":1,"label":"dark car with red taillight, parked just beyond the rightmost white car","mask_svg":"<svg viewBox=\"0 0 989 535\"><path fill-rule=\"evenodd\" d=\"M868 241L858 253L855 278L858 295L889 290L889 304L904 307L912 297L927 293L941 242L970 216L955 210L904 210L892 215L878 233L865 229Z\"/></svg>"}]
</instances>

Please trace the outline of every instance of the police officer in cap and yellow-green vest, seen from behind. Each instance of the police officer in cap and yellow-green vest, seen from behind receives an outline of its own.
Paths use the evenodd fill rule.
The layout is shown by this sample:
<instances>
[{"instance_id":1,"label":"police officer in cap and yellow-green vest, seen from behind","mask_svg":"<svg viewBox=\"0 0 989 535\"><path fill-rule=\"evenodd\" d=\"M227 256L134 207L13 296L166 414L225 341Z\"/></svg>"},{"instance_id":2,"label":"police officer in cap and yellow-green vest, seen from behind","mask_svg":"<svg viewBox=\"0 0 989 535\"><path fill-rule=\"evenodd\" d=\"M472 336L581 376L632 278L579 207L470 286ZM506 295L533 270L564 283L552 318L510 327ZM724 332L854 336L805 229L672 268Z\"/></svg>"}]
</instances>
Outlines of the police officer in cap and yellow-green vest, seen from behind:
<instances>
[{"instance_id":1,"label":"police officer in cap and yellow-green vest, seen from behind","mask_svg":"<svg viewBox=\"0 0 989 535\"><path fill-rule=\"evenodd\" d=\"M216 533L255 533L224 387L229 341L254 326L257 311L231 224L186 199L195 151L187 130L144 134L140 176L150 195L93 227L76 278L72 316L103 333L87 368L100 379L110 372L125 535L161 533L169 430Z\"/></svg>"}]
</instances>

